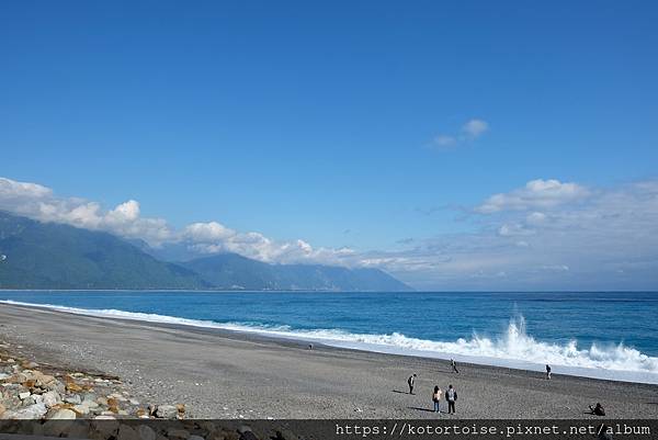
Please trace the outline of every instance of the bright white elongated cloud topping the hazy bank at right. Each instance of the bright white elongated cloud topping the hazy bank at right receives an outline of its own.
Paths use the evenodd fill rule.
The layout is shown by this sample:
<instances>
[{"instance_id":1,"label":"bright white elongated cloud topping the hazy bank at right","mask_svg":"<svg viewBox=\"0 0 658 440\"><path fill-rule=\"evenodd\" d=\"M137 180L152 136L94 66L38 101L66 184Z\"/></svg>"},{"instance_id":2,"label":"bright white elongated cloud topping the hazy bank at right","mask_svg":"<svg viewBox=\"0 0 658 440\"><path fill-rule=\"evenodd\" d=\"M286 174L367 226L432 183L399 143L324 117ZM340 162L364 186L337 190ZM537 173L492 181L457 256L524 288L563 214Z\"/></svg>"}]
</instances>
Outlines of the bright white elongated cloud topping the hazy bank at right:
<instances>
[{"instance_id":1,"label":"bright white elongated cloud topping the hazy bank at right","mask_svg":"<svg viewBox=\"0 0 658 440\"><path fill-rule=\"evenodd\" d=\"M491 195L475 211L480 214L491 214L502 211L551 208L582 200L588 195L590 191L576 183L537 179L531 180L521 189Z\"/></svg>"}]
</instances>

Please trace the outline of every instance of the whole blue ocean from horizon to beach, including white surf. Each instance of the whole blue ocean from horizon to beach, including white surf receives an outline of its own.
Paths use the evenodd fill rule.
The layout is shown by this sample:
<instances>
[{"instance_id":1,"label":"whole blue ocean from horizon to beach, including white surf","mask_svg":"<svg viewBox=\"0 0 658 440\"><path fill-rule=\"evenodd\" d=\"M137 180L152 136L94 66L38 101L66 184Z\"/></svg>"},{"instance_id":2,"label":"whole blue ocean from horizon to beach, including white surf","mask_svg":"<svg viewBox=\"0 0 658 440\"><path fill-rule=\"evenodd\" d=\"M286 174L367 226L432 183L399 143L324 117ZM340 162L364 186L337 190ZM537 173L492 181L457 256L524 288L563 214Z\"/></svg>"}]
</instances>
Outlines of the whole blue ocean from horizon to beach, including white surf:
<instances>
[{"instance_id":1,"label":"whole blue ocean from horizon to beach, including white surf","mask_svg":"<svg viewBox=\"0 0 658 440\"><path fill-rule=\"evenodd\" d=\"M0 291L0 302L658 384L658 293Z\"/></svg>"}]
</instances>

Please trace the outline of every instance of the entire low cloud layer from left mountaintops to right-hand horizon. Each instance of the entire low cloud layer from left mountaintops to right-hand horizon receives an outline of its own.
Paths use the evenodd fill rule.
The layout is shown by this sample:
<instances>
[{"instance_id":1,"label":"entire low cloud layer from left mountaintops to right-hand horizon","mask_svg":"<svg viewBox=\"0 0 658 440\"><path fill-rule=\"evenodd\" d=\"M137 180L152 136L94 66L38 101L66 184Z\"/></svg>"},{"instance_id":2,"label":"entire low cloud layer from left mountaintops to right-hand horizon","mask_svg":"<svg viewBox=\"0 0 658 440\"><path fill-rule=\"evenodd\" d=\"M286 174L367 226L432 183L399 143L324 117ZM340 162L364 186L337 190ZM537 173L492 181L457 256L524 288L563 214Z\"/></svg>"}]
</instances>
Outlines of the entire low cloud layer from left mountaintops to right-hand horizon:
<instances>
[{"instance_id":1,"label":"entire low cloud layer from left mountaintops to right-hand horizon","mask_svg":"<svg viewBox=\"0 0 658 440\"><path fill-rule=\"evenodd\" d=\"M466 207L472 232L410 237L390 249L316 248L238 232L219 222L173 228L140 215L60 198L47 187L0 178L0 210L42 222L105 230L196 255L237 252L265 262L374 267L417 289L658 289L658 180L614 188L535 179Z\"/></svg>"}]
</instances>

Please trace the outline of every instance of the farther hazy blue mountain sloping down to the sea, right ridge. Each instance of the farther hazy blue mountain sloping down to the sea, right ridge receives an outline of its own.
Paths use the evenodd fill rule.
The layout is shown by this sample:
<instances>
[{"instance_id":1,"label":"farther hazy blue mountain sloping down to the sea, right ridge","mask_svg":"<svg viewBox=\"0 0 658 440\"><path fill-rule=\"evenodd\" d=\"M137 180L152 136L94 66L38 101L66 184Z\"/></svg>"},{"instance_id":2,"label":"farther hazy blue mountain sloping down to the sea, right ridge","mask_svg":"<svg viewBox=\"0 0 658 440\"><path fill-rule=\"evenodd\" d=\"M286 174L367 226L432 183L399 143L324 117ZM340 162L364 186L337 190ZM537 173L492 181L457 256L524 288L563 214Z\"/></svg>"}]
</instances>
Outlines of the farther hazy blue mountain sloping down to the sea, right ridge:
<instances>
[{"instance_id":1,"label":"farther hazy blue mountain sloping down to the sea, right ridge","mask_svg":"<svg viewBox=\"0 0 658 440\"><path fill-rule=\"evenodd\" d=\"M410 291L378 269L320 264L268 264L237 253L222 253L180 263L218 289L309 291Z\"/></svg>"}]
</instances>

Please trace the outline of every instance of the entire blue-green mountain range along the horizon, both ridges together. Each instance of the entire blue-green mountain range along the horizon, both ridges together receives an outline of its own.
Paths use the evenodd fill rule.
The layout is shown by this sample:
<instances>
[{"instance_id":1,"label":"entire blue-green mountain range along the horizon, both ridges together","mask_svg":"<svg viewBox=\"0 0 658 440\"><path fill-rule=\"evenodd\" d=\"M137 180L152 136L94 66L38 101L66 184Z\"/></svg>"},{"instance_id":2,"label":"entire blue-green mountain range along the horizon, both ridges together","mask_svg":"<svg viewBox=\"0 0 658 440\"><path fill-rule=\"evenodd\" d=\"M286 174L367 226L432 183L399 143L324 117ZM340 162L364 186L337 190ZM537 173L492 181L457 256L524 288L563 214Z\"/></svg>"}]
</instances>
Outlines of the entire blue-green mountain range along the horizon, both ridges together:
<instances>
[{"instance_id":1,"label":"entire blue-green mountain range along the horizon, both ridges together","mask_svg":"<svg viewBox=\"0 0 658 440\"><path fill-rule=\"evenodd\" d=\"M237 253L171 262L155 255L143 241L0 212L0 289L411 290L378 269L270 264Z\"/></svg>"}]
</instances>

